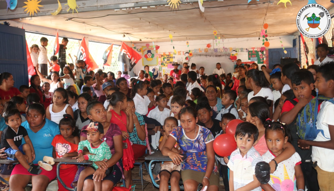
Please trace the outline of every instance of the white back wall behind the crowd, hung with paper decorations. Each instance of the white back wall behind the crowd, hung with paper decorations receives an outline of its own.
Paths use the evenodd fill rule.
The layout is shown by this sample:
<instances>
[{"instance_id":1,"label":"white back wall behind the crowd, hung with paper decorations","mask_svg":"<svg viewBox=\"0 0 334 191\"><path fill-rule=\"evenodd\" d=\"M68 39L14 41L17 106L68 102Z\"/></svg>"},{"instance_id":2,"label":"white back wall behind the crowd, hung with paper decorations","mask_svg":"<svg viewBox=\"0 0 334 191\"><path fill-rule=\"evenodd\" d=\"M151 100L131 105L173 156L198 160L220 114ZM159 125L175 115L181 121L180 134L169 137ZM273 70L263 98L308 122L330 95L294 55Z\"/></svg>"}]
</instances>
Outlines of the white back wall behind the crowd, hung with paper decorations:
<instances>
[{"instance_id":1,"label":"white back wall behind the crowd, hung with paper decorations","mask_svg":"<svg viewBox=\"0 0 334 191\"><path fill-rule=\"evenodd\" d=\"M280 39L281 37L281 39ZM212 38L214 36L212 35ZM293 47L293 36L276 36L276 37L269 37L268 41L270 43L269 48L282 48L281 42L283 42L283 45L285 48L292 48ZM177 62L178 60L182 59L182 63L185 61L185 56L183 55L184 52L188 51L189 49L191 51L194 51L194 49L197 49L197 53L193 53L193 56L190 57L189 63L195 63L197 69L199 69L200 66L203 66L205 68L206 74L212 74L212 71L216 67L216 63L219 62L221 64L221 67L225 70L225 73L233 73L234 71L234 63L230 60L230 48L235 50L239 49L237 58L241 59L243 62L249 62L247 57L246 49L252 50L252 47L255 47L255 50L257 50L257 47L262 47L262 38L258 40L257 37L254 38L231 38L231 39L220 39L220 43L218 44L217 39L217 46L215 40L189 40L189 47L186 45L187 41L173 41L171 42L154 42L154 45L160 46L158 49L159 54L163 54L164 52L168 54L168 52L173 52L173 46L175 47L175 50L181 51L181 55L174 55L175 59L173 61ZM211 48L209 48L209 52L204 52L204 48L206 48L206 45L210 43ZM153 43L149 43L150 45L153 45ZM130 45L130 44L128 44ZM130 45L131 46L131 45ZM146 46L146 43L143 44L135 44L137 48L140 48L141 46ZM200 50L202 53L198 53ZM218 48L218 52L214 53L213 49ZM227 52L220 52L220 48L227 48ZM243 48L243 52L240 52L240 48ZM226 50L226 49L225 49ZM156 66L158 67L158 66ZM134 72L138 74L139 70L142 70L144 66L142 65L142 60L137 63L137 65L134 68ZM153 67L150 67L153 68Z\"/></svg>"}]
</instances>

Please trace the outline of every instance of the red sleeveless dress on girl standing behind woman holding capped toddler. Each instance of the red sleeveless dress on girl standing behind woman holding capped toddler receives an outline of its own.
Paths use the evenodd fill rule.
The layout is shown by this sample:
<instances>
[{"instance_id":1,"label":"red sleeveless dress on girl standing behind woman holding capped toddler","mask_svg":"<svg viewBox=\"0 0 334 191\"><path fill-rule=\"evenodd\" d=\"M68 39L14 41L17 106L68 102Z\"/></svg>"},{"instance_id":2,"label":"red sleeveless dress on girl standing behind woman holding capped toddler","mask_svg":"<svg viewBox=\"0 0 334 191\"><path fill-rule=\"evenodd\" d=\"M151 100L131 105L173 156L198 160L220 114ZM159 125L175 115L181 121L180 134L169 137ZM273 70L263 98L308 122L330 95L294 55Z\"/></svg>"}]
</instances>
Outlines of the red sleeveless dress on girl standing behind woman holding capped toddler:
<instances>
[{"instance_id":1,"label":"red sleeveless dress on girl standing behind woman holding capped toddler","mask_svg":"<svg viewBox=\"0 0 334 191\"><path fill-rule=\"evenodd\" d=\"M126 121L126 114L121 111L121 115L118 115L114 110L111 110L112 117L110 122L118 125L121 129L121 131L128 131L126 126L127 126L127 121ZM126 171L129 171L134 167L135 164L135 158L134 158L134 153L131 147L131 142L129 139L123 140L123 143L128 144L127 149L123 149L123 168Z\"/></svg>"}]
</instances>

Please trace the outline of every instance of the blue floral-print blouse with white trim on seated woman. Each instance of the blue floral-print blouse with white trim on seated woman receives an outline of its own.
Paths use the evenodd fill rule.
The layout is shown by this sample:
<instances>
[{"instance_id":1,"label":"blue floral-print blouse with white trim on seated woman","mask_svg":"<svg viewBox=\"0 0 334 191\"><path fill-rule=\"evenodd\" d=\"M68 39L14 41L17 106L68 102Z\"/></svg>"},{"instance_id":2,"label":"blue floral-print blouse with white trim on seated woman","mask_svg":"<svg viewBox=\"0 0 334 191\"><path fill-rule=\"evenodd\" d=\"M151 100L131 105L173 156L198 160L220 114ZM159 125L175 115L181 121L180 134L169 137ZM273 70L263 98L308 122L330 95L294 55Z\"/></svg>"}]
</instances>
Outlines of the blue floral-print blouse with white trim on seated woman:
<instances>
[{"instance_id":1,"label":"blue floral-print blouse with white trim on seated woman","mask_svg":"<svg viewBox=\"0 0 334 191\"><path fill-rule=\"evenodd\" d=\"M190 139L185 134L181 126L176 127L170 135L179 144L181 150L183 150L187 158L181 163L182 170L195 170L199 172L206 172L207 155L206 144L213 141L213 135L211 131L205 127L199 126L199 132L196 134L195 139ZM218 172L217 166L214 165L213 172Z\"/></svg>"}]
</instances>

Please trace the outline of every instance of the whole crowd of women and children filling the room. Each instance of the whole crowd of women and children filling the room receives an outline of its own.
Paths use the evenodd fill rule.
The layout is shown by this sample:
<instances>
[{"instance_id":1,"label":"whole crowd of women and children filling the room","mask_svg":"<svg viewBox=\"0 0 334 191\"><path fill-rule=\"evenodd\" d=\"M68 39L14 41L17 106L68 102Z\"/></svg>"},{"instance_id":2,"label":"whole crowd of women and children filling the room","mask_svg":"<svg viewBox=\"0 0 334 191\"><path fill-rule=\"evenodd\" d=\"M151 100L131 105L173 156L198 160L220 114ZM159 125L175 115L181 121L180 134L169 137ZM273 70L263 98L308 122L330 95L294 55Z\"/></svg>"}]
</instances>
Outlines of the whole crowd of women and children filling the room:
<instances>
[{"instance_id":1,"label":"whole crowd of women and children filling the room","mask_svg":"<svg viewBox=\"0 0 334 191\"><path fill-rule=\"evenodd\" d=\"M124 179L134 190L131 171L147 150L172 160L153 169L164 191L169 181L171 190L180 190L180 179L186 191L200 183L218 191L219 177L233 191L334 187L334 62L326 44L318 45L320 58L307 69L300 63L259 69L239 59L232 74L217 63L206 75L194 63L181 70L174 63L158 80L148 66L130 78L121 71L117 77L88 71L82 60L66 64L67 42L50 63L43 58L46 38L32 46L37 61L30 86L17 89L12 74L0 74L0 158L19 161L0 166L11 175L11 190L24 190L29 181L46 190L56 177L53 159L62 157L94 162L79 169L61 165L67 187L77 181L79 191L112 190ZM213 141L234 119L243 121L234 134L237 148L218 156ZM154 124L154 135L147 135L146 124ZM269 163L268 184L255 176L260 161ZM58 190L66 190L59 181Z\"/></svg>"}]
</instances>

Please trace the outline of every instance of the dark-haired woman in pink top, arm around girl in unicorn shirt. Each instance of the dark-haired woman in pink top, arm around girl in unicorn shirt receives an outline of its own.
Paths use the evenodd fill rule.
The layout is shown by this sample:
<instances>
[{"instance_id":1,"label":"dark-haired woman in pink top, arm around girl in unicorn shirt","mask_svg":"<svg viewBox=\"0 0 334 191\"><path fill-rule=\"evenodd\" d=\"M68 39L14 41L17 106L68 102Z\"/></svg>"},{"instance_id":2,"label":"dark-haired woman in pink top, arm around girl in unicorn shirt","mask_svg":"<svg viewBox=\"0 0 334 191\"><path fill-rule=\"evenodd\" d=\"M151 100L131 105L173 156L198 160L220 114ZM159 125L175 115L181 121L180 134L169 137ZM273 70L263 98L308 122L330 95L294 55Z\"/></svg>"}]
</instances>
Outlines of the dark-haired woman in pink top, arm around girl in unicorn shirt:
<instances>
[{"instance_id":1,"label":"dark-haired woman in pink top, arm around girl in unicorn shirt","mask_svg":"<svg viewBox=\"0 0 334 191\"><path fill-rule=\"evenodd\" d=\"M252 100L249 101L246 121L256 125L256 127L259 130L259 137L258 137L259 142L254 146L254 148L260 153L261 156L268 151L265 137L266 129L263 124L265 123L266 120L271 120L269 116L270 116L270 110L268 104L264 102L254 102ZM285 147L284 151L269 163L271 167L270 170L271 173L273 173L276 170L275 163L278 164L284 160L289 159L296 152L295 148L289 142L285 144L284 147Z\"/></svg>"}]
</instances>

